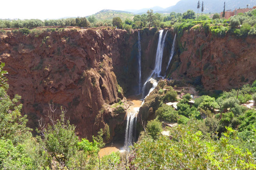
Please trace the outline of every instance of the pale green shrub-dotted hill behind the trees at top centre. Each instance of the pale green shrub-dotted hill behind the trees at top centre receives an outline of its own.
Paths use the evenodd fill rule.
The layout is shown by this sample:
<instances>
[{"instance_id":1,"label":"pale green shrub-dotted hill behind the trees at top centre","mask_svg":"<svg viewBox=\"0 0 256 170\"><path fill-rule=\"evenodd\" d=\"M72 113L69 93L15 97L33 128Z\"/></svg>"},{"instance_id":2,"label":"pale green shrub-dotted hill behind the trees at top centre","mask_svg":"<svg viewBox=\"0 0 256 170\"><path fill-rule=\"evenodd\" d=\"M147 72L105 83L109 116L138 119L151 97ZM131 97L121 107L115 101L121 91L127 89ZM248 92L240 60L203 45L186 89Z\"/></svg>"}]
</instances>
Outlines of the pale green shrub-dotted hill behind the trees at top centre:
<instances>
[{"instance_id":1,"label":"pale green shrub-dotted hill behind the trees at top centre","mask_svg":"<svg viewBox=\"0 0 256 170\"><path fill-rule=\"evenodd\" d=\"M91 16L96 17L97 20L112 20L113 17L120 17L122 20L125 20L125 18L133 19L134 14L128 11L115 11L115 10L103 9L102 11L99 11L96 14L93 14Z\"/></svg>"}]
</instances>

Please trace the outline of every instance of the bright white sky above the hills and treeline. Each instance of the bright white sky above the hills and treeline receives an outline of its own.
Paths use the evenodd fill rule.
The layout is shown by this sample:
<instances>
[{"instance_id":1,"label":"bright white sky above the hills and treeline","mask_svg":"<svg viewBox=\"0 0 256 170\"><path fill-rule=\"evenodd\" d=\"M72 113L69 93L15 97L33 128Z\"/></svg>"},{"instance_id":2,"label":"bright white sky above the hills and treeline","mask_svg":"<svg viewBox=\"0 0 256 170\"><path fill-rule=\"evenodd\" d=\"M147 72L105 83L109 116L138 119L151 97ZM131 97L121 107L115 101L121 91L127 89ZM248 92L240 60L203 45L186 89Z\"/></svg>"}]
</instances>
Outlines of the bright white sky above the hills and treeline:
<instances>
[{"instance_id":1,"label":"bright white sky above the hills and treeline","mask_svg":"<svg viewBox=\"0 0 256 170\"><path fill-rule=\"evenodd\" d=\"M55 19L84 17L102 9L125 10L160 6L167 8L179 0L3 0L1 19Z\"/></svg>"}]
</instances>

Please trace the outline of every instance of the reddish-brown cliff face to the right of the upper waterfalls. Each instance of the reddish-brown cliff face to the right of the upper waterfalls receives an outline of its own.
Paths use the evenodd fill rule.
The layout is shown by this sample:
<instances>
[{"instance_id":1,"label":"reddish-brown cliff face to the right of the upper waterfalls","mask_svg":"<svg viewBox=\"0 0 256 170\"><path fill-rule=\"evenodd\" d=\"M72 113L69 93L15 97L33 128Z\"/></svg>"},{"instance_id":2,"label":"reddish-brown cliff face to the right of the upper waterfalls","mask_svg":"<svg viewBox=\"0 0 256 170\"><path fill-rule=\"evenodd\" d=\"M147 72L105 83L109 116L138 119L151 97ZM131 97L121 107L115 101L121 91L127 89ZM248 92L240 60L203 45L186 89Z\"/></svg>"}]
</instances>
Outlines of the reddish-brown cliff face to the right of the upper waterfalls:
<instances>
[{"instance_id":1,"label":"reddish-brown cliff face to the right of the upper waterfalls","mask_svg":"<svg viewBox=\"0 0 256 170\"><path fill-rule=\"evenodd\" d=\"M172 77L187 77L195 84L215 90L241 87L256 79L253 36L216 37L205 34L203 29L191 29L184 31L177 43L179 56L172 62Z\"/></svg>"}]
</instances>

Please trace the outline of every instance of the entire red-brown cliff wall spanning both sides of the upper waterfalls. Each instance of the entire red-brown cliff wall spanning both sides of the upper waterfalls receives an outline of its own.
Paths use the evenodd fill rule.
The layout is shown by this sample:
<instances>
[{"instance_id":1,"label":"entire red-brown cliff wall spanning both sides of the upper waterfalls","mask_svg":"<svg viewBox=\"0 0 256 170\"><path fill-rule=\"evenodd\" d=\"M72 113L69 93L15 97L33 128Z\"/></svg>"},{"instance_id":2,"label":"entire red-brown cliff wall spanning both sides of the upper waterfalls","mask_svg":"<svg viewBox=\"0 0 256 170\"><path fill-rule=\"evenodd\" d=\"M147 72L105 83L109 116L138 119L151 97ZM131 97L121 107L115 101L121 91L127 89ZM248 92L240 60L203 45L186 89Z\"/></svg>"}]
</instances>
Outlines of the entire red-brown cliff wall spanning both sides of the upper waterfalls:
<instances>
[{"instance_id":1,"label":"entire red-brown cliff wall spanning both sides of the upper waterfalls","mask_svg":"<svg viewBox=\"0 0 256 170\"><path fill-rule=\"evenodd\" d=\"M143 94L143 84L154 73L206 90L237 88L256 79L255 44L253 36L216 37L203 28L182 34L112 27L7 31L0 34L0 62L9 73L9 95L22 97L29 127L35 129L41 117L48 122L49 103L54 103L66 108L77 135L92 139L102 128L110 133L104 135L108 143L124 140L126 97ZM158 68L156 55L162 57ZM123 110L113 107L120 101Z\"/></svg>"}]
</instances>

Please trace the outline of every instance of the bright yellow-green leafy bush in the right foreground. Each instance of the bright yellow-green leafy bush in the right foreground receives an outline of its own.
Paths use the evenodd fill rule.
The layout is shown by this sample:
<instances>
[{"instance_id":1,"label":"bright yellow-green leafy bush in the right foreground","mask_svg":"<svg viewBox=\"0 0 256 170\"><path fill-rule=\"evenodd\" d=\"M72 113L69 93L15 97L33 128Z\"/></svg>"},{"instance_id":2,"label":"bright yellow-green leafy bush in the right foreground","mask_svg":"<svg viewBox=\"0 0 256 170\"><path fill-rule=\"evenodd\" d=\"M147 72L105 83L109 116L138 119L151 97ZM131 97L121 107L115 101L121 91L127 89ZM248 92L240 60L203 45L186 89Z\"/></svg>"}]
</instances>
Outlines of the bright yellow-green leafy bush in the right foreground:
<instances>
[{"instance_id":1,"label":"bright yellow-green leafy bush in the right foreground","mask_svg":"<svg viewBox=\"0 0 256 170\"><path fill-rule=\"evenodd\" d=\"M164 169L255 169L250 152L234 146L237 131L227 127L219 140L203 135L195 125L177 126L171 130L173 139L160 136L157 140L144 138L134 145L131 170Z\"/></svg>"}]
</instances>

